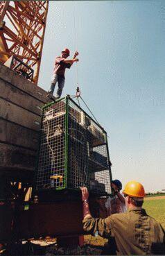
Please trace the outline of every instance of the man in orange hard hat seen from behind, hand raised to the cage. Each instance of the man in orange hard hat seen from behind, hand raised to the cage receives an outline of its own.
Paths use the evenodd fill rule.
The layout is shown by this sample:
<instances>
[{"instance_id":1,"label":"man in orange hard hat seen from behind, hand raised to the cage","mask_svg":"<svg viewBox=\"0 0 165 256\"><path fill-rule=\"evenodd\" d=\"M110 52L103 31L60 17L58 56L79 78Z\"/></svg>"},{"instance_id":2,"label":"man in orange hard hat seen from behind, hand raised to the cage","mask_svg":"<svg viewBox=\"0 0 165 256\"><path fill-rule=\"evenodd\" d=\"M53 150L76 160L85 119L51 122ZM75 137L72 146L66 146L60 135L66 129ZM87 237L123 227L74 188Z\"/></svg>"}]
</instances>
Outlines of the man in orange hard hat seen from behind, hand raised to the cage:
<instances>
[{"instance_id":1,"label":"man in orange hard hat seen from behind, hand raised to the cage","mask_svg":"<svg viewBox=\"0 0 165 256\"><path fill-rule=\"evenodd\" d=\"M112 251L117 255L164 255L165 233L152 217L142 208L145 191L137 181L125 185L125 205L128 211L112 214L105 219L94 219L89 211L87 187L81 187L83 200L84 230L110 238ZM111 251L110 251L111 254Z\"/></svg>"}]
</instances>

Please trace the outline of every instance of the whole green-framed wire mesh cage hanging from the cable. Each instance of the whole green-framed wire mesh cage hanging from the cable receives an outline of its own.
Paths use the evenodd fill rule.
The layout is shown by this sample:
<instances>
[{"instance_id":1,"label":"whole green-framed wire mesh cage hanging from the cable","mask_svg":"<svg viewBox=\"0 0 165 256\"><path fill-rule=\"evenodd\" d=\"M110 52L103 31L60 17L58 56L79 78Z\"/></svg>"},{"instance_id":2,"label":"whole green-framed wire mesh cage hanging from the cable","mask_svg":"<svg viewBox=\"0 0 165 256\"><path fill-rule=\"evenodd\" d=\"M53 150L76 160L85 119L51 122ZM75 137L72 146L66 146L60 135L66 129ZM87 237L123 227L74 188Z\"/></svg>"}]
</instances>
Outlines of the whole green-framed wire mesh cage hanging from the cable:
<instances>
[{"instance_id":1,"label":"whole green-framed wire mesh cage hanging from the cable","mask_svg":"<svg viewBox=\"0 0 165 256\"><path fill-rule=\"evenodd\" d=\"M44 107L37 189L111 193L107 136L69 96Z\"/></svg>"}]
</instances>

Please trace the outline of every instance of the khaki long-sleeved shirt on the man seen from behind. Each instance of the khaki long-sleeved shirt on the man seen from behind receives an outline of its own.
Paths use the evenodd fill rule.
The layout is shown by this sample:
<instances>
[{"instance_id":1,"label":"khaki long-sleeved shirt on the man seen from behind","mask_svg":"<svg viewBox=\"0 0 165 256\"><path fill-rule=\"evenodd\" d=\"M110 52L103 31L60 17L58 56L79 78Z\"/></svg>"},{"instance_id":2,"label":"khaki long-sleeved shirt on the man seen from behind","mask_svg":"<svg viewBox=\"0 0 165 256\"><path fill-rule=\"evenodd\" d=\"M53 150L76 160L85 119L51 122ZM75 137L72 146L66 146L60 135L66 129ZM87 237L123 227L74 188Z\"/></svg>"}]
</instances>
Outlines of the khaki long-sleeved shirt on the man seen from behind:
<instances>
[{"instance_id":1,"label":"khaki long-sleeved shirt on the man seen from behind","mask_svg":"<svg viewBox=\"0 0 165 256\"><path fill-rule=\"evenodd\" d=\"M112 214L106 219L85 218L84 230L114 239L117 255L165 254L165 234L162 225L144 209Z\"/></svg>"}]
</instances>

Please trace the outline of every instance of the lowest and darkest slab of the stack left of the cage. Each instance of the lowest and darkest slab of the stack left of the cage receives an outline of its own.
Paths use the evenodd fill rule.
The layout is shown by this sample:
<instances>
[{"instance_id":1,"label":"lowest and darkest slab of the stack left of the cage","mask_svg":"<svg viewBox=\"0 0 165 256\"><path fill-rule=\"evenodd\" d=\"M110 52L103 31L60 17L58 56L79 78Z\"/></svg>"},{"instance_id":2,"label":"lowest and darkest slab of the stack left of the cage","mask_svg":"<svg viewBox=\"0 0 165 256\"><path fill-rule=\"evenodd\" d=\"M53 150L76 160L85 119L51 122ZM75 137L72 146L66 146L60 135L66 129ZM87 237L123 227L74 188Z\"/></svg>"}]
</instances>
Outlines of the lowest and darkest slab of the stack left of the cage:
<instances>
[{"instance_id":1,"label":"lowest and darkest slab of the stack left of the cage","mask_svg":"<svg viewBox=\"0 0 165 256\"><path fill-rule=\"evenodd\" d=\"M36 152L25 148L0 143L0 169L27 170L35 169Z\"/></svg>"}]
</instances>

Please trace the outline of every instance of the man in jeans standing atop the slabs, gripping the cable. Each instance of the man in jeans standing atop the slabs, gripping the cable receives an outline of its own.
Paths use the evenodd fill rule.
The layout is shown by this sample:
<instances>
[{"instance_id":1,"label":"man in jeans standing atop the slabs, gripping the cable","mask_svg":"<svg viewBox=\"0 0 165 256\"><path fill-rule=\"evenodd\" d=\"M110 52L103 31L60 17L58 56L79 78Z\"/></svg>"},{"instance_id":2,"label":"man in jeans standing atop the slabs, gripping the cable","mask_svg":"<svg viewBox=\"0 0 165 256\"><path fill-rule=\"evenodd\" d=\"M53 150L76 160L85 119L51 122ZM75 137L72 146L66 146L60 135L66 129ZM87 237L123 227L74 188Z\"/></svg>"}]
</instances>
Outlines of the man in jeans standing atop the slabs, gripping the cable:
<instances>
[{"instance_id":1,"label":"man in jeans standing atop the slabs, gripping the cable","mask_svg":"<svg viewBox=\"0 0 165 256\"><path fill-rule=\"evenodd\" d=\"M62 50L62 56L58 56L55 58L53 76L51 79L51 87L49 89L49 95L48 95L48 96L50 96L50 98L53 96L53 92L54 92L56 83L58 83L58 91L56 93L55 99L60 98L60 96L62 94L62 89L64 87L65 69L66 68L70 69L73 62L78 62L78 58L76 58L76 56L78 56L78 51L76 51L76 53L74 53L73 59L71 59L71 60L67 60L69 55L70 55L69 49L65 48Z\"/></svg>"}]
</instances>

